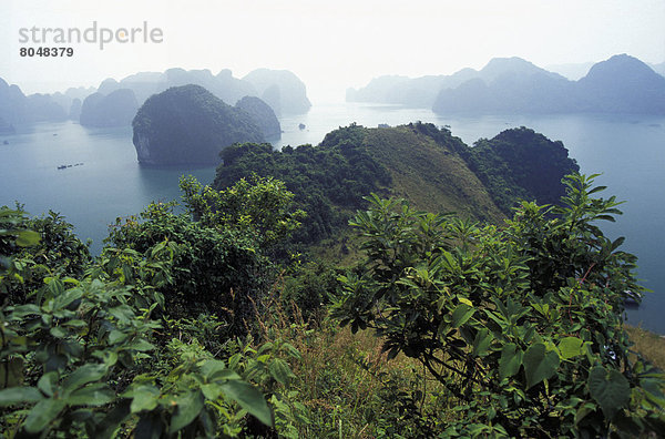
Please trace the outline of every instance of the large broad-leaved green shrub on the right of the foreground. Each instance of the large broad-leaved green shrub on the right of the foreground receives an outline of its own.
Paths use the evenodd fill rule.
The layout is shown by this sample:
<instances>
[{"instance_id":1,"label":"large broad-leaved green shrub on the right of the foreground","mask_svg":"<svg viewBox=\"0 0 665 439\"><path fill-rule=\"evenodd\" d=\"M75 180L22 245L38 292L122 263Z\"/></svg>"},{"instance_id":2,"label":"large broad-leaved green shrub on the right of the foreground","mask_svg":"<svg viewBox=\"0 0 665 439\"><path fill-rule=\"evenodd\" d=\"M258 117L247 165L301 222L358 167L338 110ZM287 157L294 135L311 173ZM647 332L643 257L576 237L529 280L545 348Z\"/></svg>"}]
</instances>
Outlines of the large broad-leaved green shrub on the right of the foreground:
<instances>
[{"instance_id":1,"label":"large broad-leaved green shrub on the right of the foreground","mask_svg":"<svg viewBox=\"0 0 665 439\"><path fill-rule=\"evenodd\" d=\"M665 431L665 377L631 359L622 327L635 257L598 228L620 212L591 196L593 177L569 176L562 207L523 203L503 228L377 196L351 222L368 257L340 278L334 315L448 389L447 435Z\"/></svg>"}]
</instances>

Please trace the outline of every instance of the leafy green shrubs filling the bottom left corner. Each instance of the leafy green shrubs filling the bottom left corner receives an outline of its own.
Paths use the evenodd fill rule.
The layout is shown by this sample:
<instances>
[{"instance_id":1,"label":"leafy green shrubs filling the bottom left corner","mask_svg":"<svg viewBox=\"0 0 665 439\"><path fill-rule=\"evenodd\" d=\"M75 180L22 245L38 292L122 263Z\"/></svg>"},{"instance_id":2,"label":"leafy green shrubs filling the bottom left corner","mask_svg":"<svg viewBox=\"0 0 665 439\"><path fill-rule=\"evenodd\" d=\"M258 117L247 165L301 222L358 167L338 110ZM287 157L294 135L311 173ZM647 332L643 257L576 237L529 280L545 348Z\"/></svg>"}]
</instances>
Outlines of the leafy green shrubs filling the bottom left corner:
<instances>
[{"instance_id":1,"label":"leafy green shrubs filling the bottom left corner","mask_svg":"<svg viewBox=\"0 0 665 439\"><path fill-rule=\"evenodd\" d=\"M273 425L263 392L203 349L164 374L151 367L153 333L163 330L154 312L164 306L160 289L173 280L176 249L170 242L146 256L108 249L81 279L45 278L31 303L2 309L3 432L237 436L247 412Z\"/></svg>"}]
</instances>

